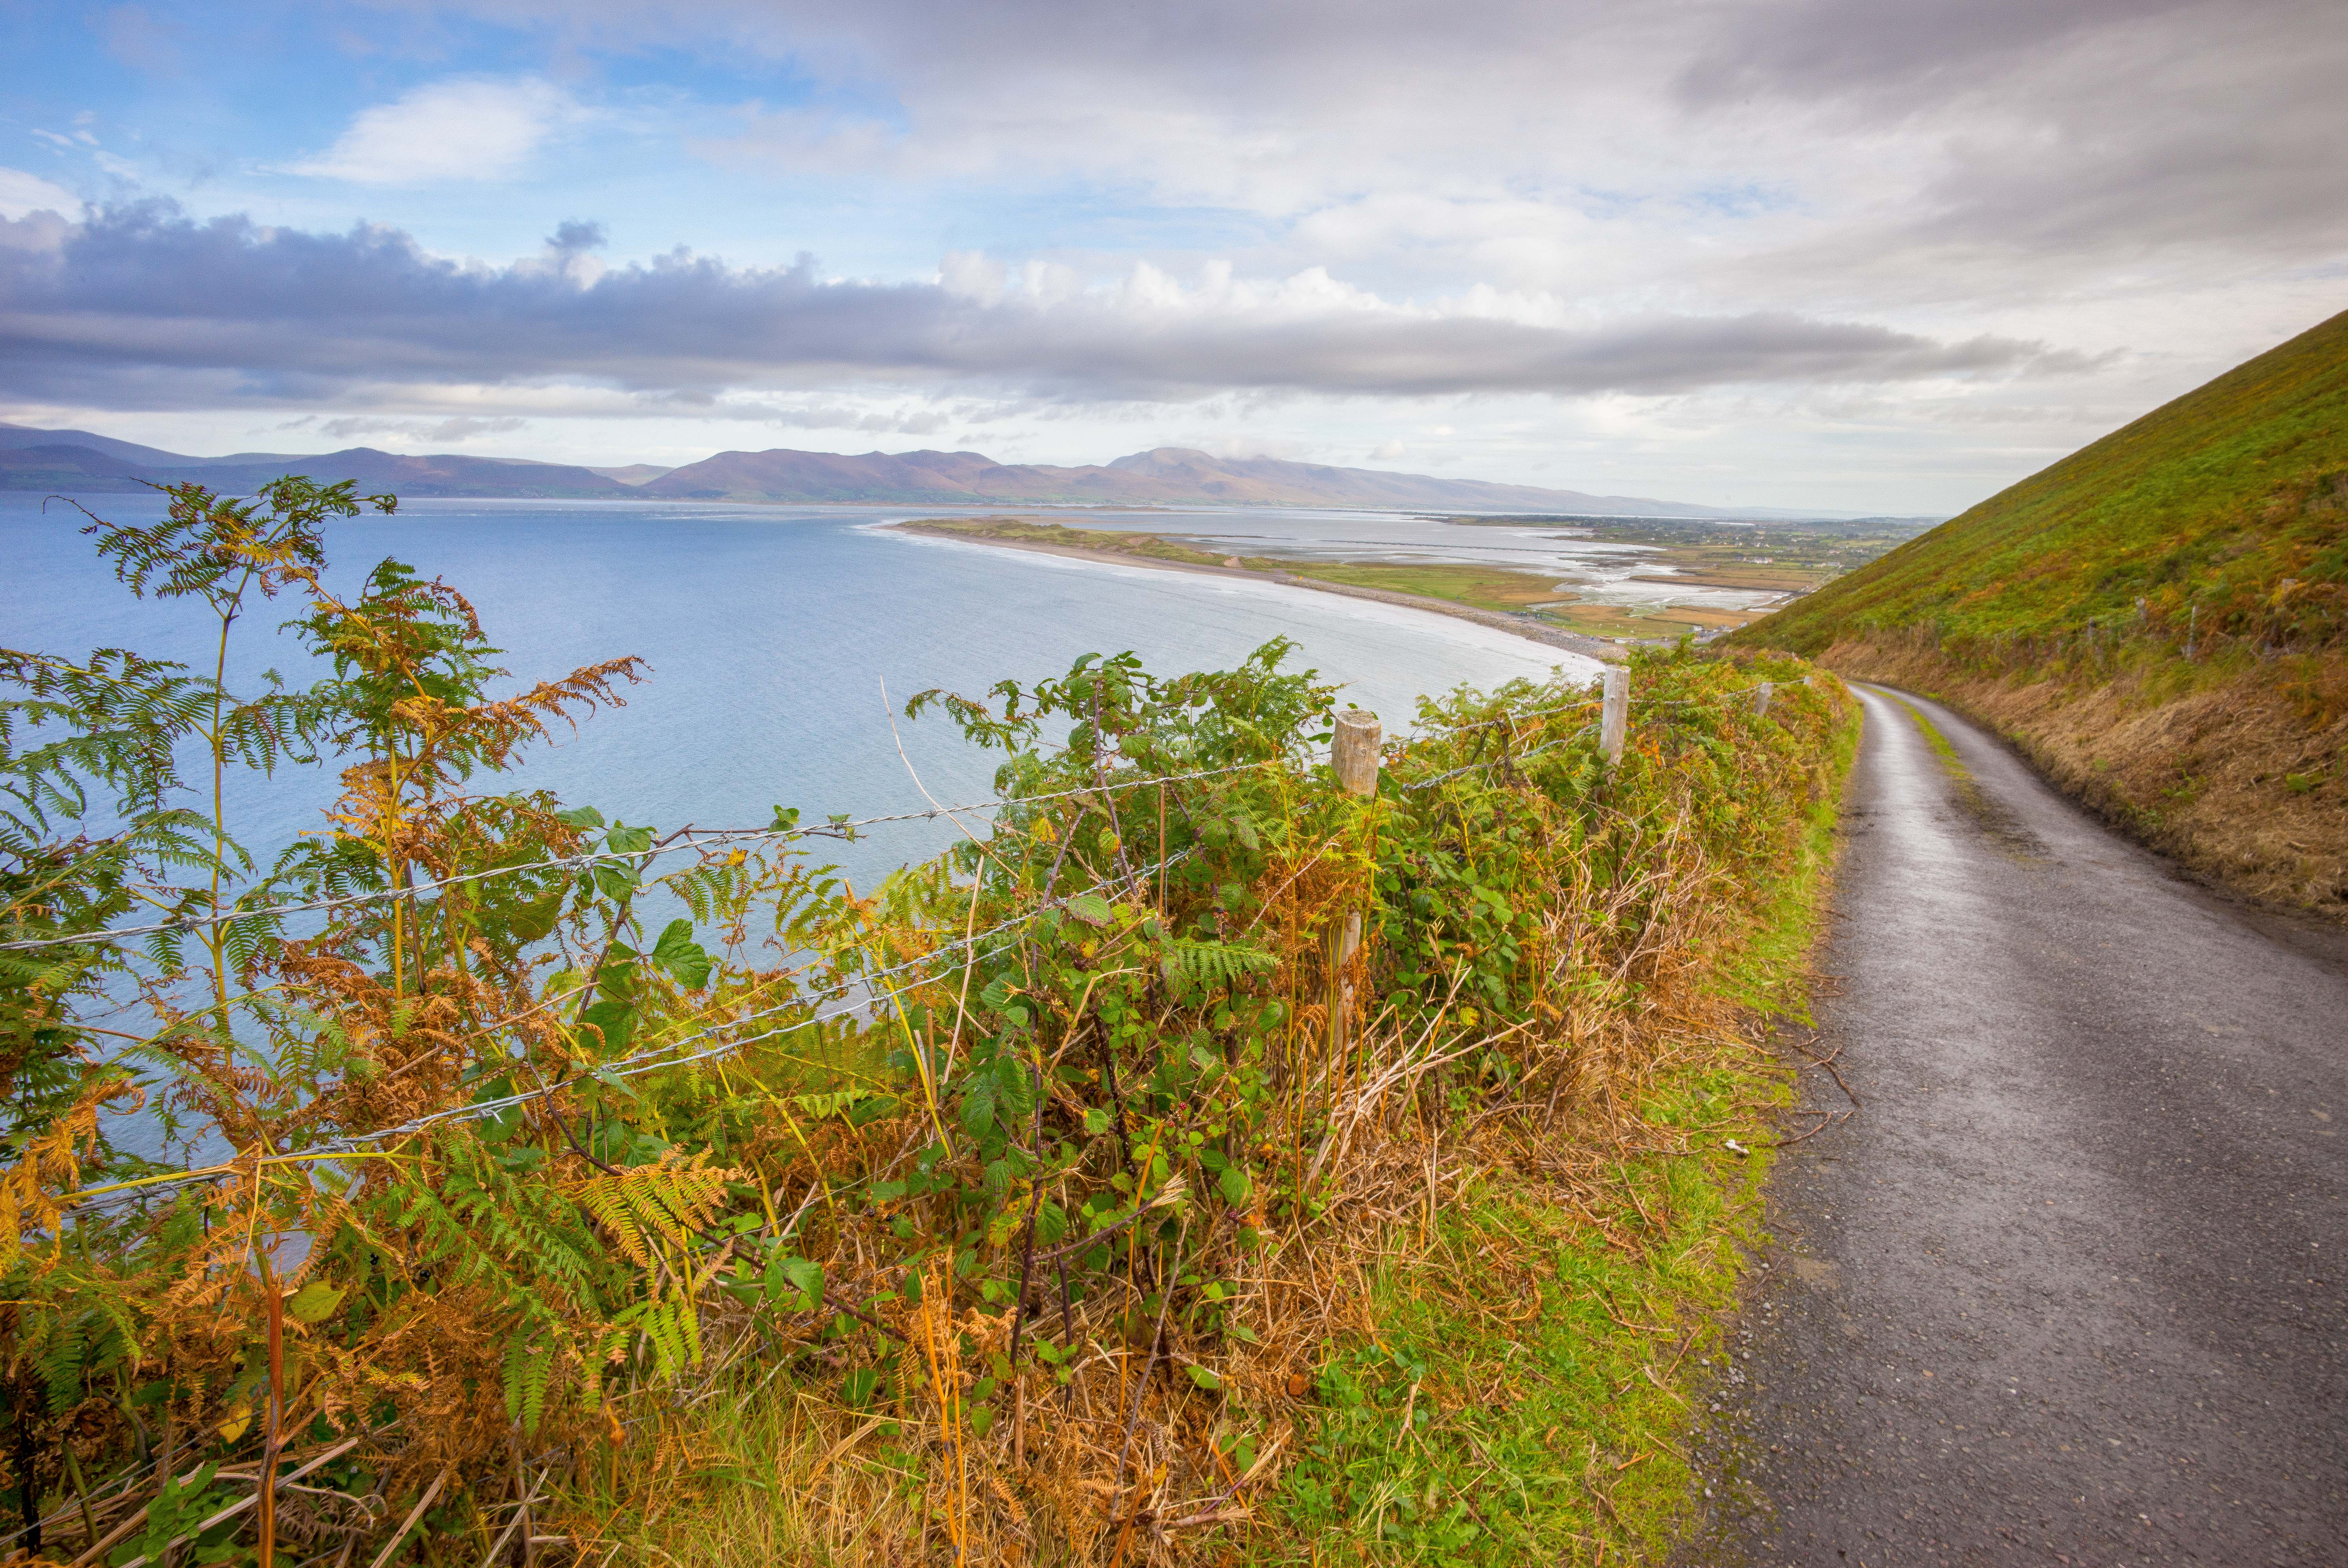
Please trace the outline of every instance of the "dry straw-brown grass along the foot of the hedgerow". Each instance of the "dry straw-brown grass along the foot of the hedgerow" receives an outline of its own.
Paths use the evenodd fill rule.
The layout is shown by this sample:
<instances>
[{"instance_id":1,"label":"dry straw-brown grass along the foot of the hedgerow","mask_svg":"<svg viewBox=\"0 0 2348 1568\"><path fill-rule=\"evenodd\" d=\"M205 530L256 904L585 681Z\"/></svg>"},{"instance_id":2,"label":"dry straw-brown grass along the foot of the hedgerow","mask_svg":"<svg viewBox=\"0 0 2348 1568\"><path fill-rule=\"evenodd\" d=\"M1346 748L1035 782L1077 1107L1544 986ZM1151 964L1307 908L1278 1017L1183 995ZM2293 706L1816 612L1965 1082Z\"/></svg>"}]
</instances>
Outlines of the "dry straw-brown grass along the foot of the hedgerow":
<instances>
[{"instance_id":1,"label":"dry straw-brown grass along the foot of the hedgerow","mask_svg":"<svg viewBox=\"0 0 2348 1568\"><path fill-rule=\"evenodd\" d=\"M1329 1108L1320 1143L1266 1157L1305 1169L1315 1211L1289 1223L1247 1216L1261 1237L1254 1246L1233 1235L1237 1218L1216 1225L1205 1209L1190 1211L1172 1246L1132 1228L1125 1289L1073 1310L1045 1275L1026 1340L1073 1352L1071 1378L1061 1387L1050 1368L1021 1364L993 1392L1003 1415L984 1432L972 1411L989 1401L979 1380L1003 1371L1007 1305L953 1317L935 1305L885 1312L906 1350L897 1394L878 1408L848 1408L817 1380L775 1366L782 1347L744 1314L697 1394L634 1432L615 1430L603 1486L596 1467L580 1467L587 1486L561 1519L585 1547L580 1561L1289 1561L1298 1542L1266 1530L1263 1507L1313 1439L1317 1371L1338 1347L1376 1338L1381 1277L1409 1272L1416 1298L1484 1322L1500 1336L1493 1343L1540 1312L1554 1251L1486 1232L1477 1256L1460 1258L1437 1225L1446 1202L1498 1185L1517 1209L1561 1216L1625 1256L1660 1253L1674 1237L1681 1216L1667 1197L1627 1183L1625 1162L1691 1153L1691 1129L1646 1115L1662 1084L1723 1061L1761 1061L1721 984L1721 965L1749 937L1752 894L1681 826L1660 829L1646 854L1644 876L1611 885L1583 866L1580 885L1547 915L1540 948L1559 972L1599 953L1604 962L1559 993L1538 1030L1500 1040L1531 1068L1526 1099L1465 1120L1435 1103L1442 1068L1498 1040L1486 1033L1439 1040L1385 1028L1343 1061L1305 1066L1296 1101ZM1627 918L1634 908L1651 913ZM927 1136L911 1120L869 1134L880 1145ZM819 1150L826 1162L843 1153ZM848 1244L862 1251L855 1235ZM1223 1279L1251 1343L1195 1338L1153 1312L1162 1268ZM848 1256L829 1277L848 1296L883 1284L883 1275L859 1279ZM942 1272L923 1296L946 1298ZM1425 1397L1458 1404L1470 1390L1430 1383ZM1618 1519L1597 1516L1592 1528L1615 1535L1618 1552L1632 1542ZM1338 1540L1324 1549L1329 1561L1348 1559Z\"/></svg>"}]
</instances>

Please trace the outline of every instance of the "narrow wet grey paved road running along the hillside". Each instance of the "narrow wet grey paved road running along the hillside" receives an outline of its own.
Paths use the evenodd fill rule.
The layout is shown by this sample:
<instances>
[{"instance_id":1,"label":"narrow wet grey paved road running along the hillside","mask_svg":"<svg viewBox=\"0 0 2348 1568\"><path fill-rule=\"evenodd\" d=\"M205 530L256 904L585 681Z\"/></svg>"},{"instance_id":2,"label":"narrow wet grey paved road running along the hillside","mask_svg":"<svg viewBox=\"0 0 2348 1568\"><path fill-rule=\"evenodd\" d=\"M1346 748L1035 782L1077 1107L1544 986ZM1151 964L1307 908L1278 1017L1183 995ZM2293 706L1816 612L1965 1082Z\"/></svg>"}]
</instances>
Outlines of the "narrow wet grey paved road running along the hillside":
<instances>
[{"instance_id":1,"label":"narrow wet grey paved road running along the hillside","mask_svg":"<svg viewBox=\"0 0 2348 1568\"><path fill-rule=\"evenodd\" d=\"M1688 1561L2348 1566L2339 934L1860 695L1815 1049L1862 1108L1780 1157Z\"/></svg>"}]
</instances>

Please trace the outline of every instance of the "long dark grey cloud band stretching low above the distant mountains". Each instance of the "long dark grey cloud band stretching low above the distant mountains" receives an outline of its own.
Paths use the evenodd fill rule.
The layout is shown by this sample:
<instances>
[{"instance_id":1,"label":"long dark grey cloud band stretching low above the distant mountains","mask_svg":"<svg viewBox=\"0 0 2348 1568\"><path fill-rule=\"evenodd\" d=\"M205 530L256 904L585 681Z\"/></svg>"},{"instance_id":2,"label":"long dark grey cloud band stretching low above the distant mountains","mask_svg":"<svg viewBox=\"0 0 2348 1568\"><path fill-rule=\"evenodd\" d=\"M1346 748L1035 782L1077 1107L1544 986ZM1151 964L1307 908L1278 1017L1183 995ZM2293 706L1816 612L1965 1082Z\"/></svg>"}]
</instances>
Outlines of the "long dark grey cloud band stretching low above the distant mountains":
<instances>
[{"instance_id":1,"label":"long dark grey cloud band stretching low above the distant mountains","mask_svg":"<svg viewBox=\"0 0 2348 1568\"><path fill-rule=\"evenodd\" d=\"M761 270L679 254L578 282L573 251L463 268L383 228L108 209L56 244L0 246L0 394L115 408L542 380L650 394L843 380L1089 399L1653 394L2078 369L2012 338L1935 343L1782 312L1573 331L1277 293L984 303L927 282L824 282L805 258Z\"/></svg>"}]
</instances>

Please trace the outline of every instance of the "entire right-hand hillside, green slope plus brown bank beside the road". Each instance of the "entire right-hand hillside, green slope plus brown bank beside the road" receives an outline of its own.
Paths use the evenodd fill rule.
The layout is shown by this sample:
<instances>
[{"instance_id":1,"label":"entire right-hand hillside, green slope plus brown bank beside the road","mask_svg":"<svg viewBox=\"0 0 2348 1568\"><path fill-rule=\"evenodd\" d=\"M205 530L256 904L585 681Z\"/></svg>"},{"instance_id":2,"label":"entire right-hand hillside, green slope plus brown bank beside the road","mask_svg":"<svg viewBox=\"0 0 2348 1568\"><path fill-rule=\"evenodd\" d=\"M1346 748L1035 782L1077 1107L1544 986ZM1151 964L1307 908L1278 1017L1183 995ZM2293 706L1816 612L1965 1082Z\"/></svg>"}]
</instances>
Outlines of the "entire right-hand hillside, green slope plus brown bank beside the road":
<instances>
[{"instance_id":1,"label":"entire right-hand hillside, green slope plus brown bank beside the road","mask_svg":"<svg viewBox=\"0 0 2348 1568\"><path fill-rule=\"evenodd\" d=\"M1935 692L2195 871L2348 918L2348 315L1728 641Z\"/></svg>"}]
</instances>

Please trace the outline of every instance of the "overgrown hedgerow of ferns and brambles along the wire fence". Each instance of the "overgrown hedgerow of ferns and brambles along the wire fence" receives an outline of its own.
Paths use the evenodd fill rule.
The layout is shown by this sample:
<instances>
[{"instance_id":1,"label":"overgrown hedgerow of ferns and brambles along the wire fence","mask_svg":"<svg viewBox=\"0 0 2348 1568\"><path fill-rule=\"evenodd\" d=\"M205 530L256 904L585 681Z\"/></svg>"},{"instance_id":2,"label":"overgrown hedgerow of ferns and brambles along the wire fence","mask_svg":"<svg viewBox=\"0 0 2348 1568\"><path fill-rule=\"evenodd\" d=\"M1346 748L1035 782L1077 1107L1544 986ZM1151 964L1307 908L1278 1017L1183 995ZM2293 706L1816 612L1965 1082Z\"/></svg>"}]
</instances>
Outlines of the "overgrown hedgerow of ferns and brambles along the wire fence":
<instances>
[{"instance_id":1,"label":"overgrown hedgerow of ferns and brambles along the wire fence","mask_svg":"<svg viewBox=\"0 0 2348 1568\"><path fill-rule=\"evenodd\" d=\"M26 1549L601 1561L690 1495L711 1401L780 1378L824 1552L1221 1554L1359 1326L1315 1253L1388 1223L1413 1136L1672 1145L1658 1040L1843 714L1796 660L1653 650L1620 761L1592 690L1519 681L1423 704L1355 796L1287 643L1087 655L906 704L1003 753L998 803L857 894L817 854L845 822L512 789L636 662L493 697L453 587L324 587L359 505L94 523L223 650L289 599L310 688L0 653ZM263 866L218 782L301 765L340 796Z\"/></svg>"}]
</instances>

